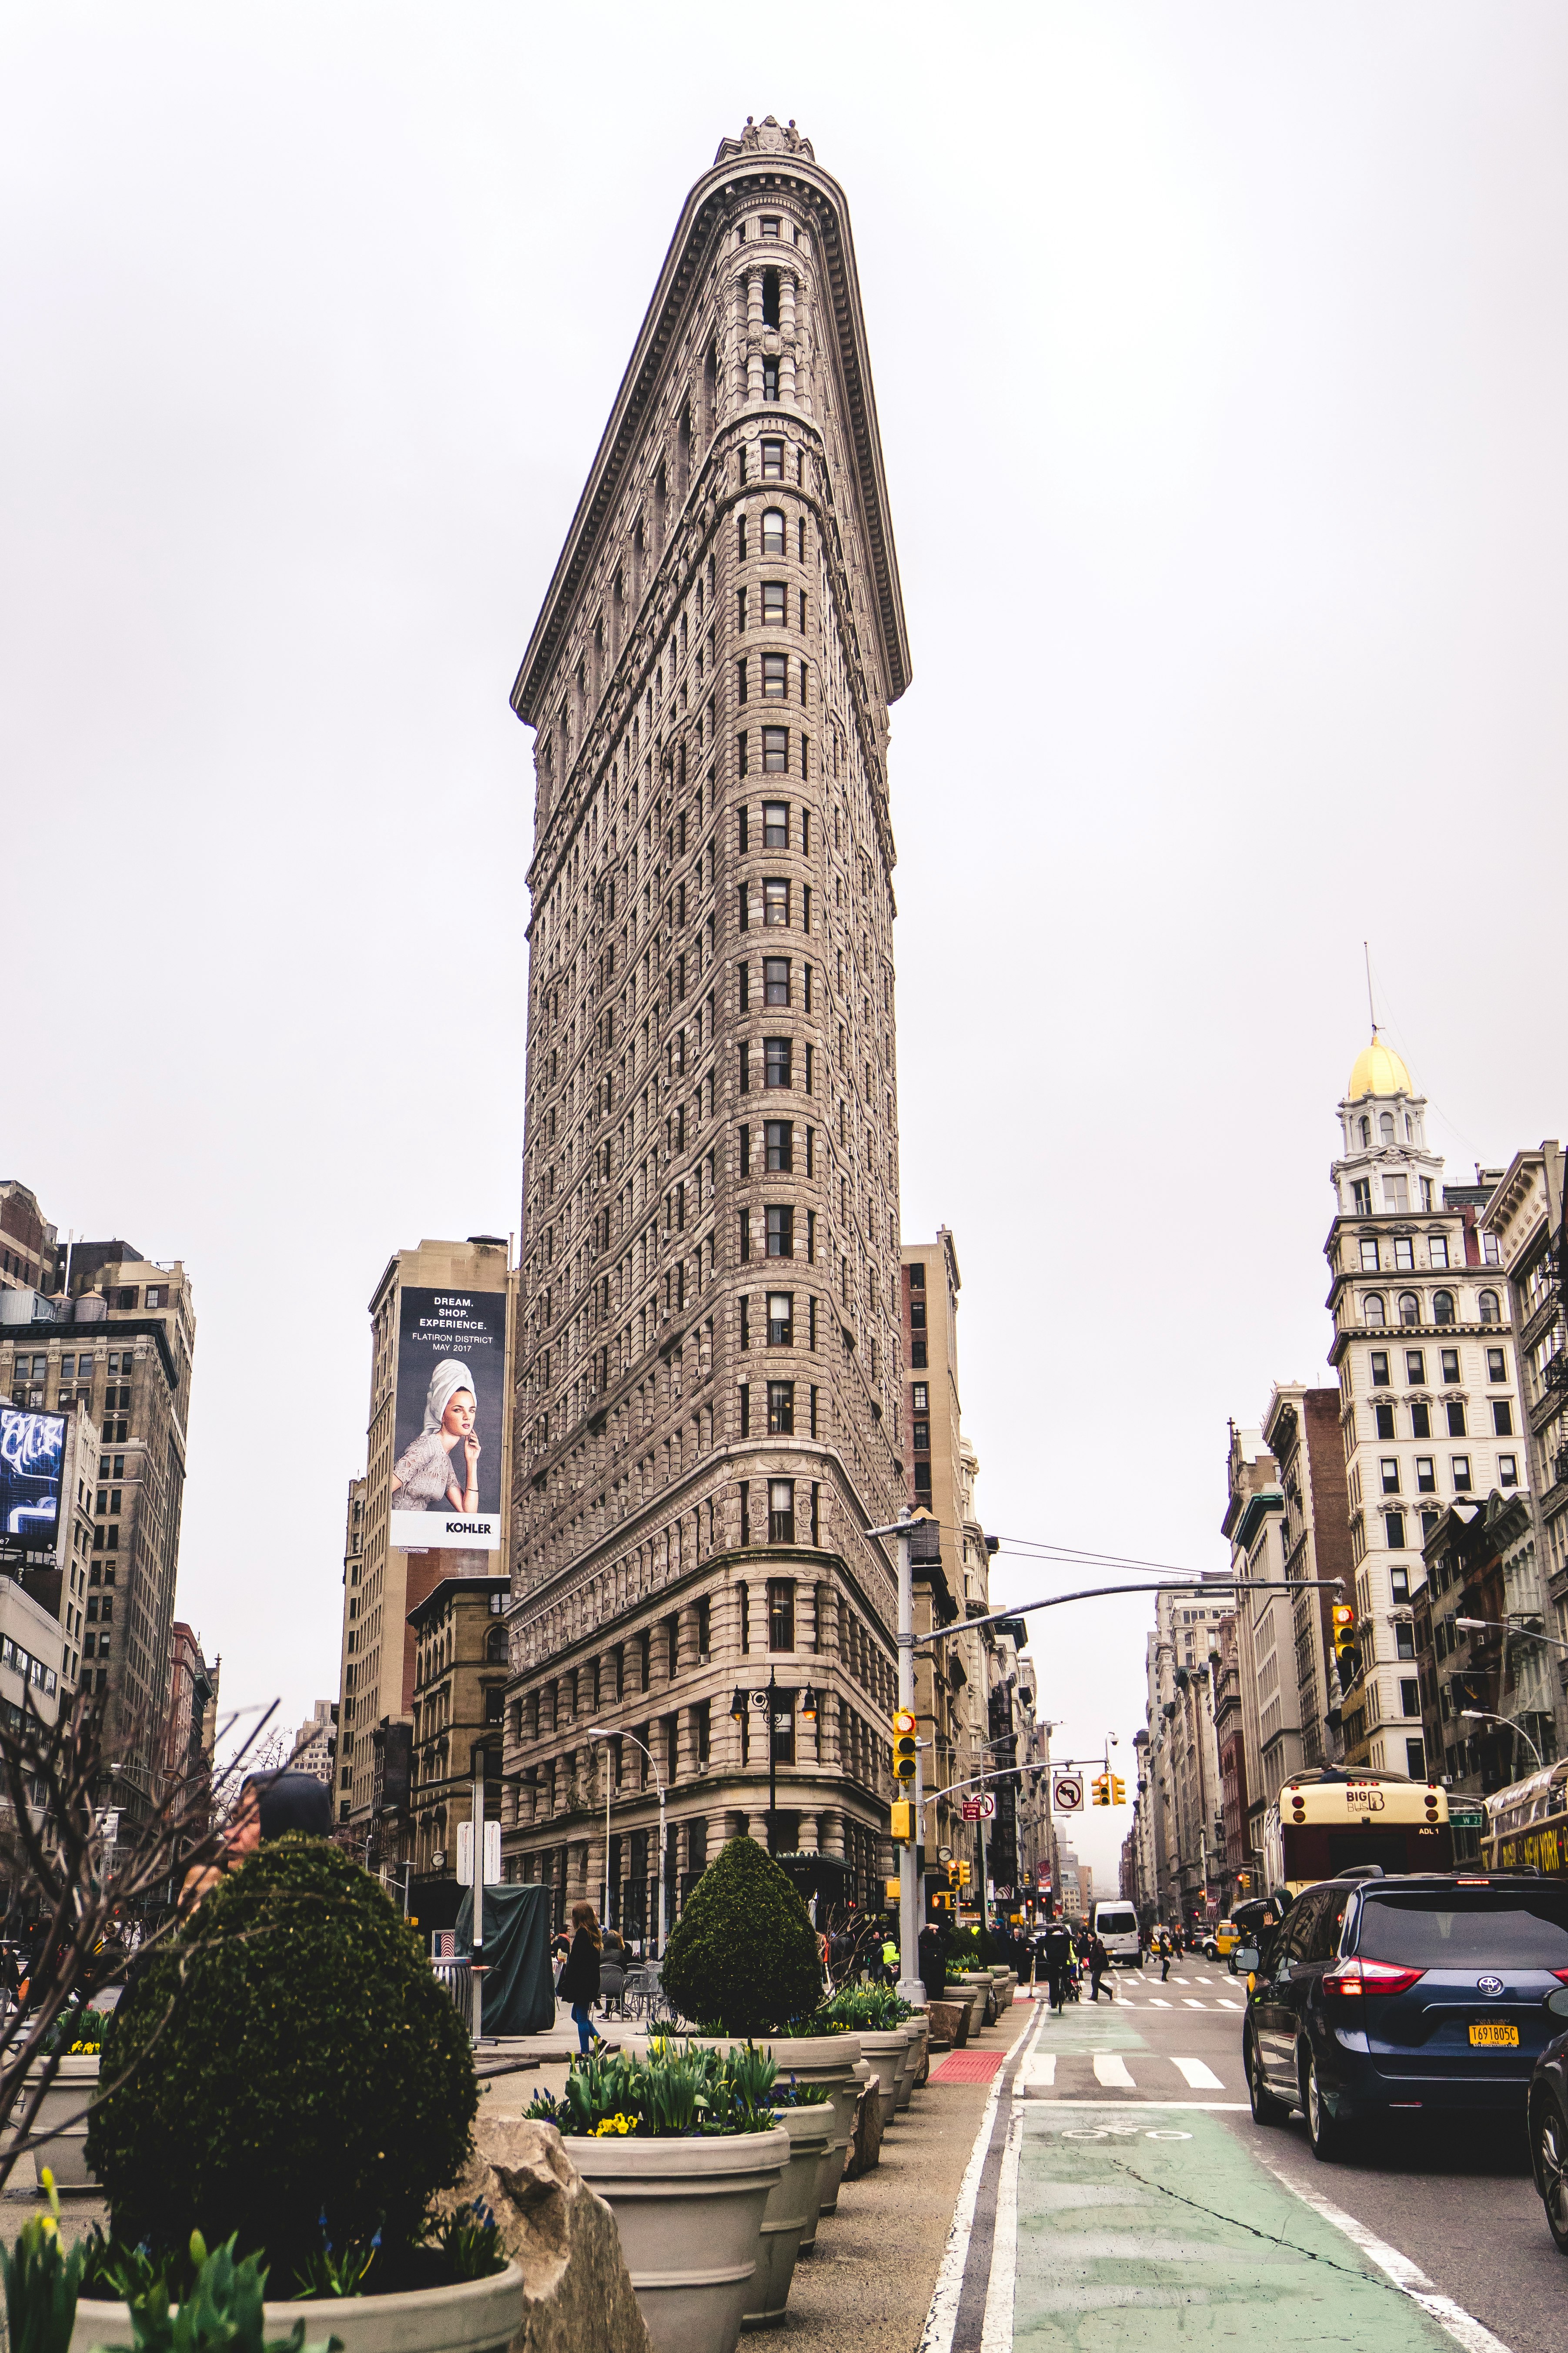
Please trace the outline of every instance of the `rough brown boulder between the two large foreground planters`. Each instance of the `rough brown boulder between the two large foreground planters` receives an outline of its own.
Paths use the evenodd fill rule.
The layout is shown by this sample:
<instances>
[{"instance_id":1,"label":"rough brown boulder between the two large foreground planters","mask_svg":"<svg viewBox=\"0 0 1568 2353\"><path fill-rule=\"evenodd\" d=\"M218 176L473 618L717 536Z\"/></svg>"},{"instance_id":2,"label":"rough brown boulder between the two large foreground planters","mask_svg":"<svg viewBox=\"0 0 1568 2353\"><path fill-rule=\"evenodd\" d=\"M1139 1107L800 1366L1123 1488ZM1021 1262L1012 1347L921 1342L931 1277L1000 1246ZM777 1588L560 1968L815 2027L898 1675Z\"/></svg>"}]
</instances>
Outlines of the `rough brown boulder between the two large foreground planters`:
<instances>
[{"instance_id":1,"label":"rough brown boulder between the two large foreground planters","mask_svg":"<svg viewBox=\"0 0 1568 2353\"><path fill-rule=\"evenodd\" d=\"M510 2353L654 2353L616 2217L583 2181L555 2125L482 2115L468 2169L437 2200L437 2214L475 2198L494 2212L527 2287Z\"/></svg>"}]
</instances>

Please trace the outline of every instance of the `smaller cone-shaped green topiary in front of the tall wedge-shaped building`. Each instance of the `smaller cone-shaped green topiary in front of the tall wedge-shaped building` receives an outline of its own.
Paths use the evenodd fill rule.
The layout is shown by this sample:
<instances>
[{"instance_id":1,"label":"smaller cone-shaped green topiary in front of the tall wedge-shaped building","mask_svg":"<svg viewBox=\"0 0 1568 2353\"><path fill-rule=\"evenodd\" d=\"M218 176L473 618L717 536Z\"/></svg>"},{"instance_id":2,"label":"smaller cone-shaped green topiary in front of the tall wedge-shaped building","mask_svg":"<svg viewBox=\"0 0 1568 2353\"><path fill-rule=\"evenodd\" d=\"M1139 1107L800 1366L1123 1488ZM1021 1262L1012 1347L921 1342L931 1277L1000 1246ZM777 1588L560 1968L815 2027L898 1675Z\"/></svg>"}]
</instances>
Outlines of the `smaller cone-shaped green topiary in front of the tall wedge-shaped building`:
<instances>
[{"instance_id":1,"label":"smaller cone-shaped green topiary in front of the tall wedge-shaped building","mask_svg":"<svg viewBox=\"0 0 1568 2353\"><path fill-rule=\"evenodd\" d=\"M764 2035L823 2000L816 1929L755 1838L731 1838L670 1929L663 1988L698 2026Z\"/></svg>"}]
</instances>

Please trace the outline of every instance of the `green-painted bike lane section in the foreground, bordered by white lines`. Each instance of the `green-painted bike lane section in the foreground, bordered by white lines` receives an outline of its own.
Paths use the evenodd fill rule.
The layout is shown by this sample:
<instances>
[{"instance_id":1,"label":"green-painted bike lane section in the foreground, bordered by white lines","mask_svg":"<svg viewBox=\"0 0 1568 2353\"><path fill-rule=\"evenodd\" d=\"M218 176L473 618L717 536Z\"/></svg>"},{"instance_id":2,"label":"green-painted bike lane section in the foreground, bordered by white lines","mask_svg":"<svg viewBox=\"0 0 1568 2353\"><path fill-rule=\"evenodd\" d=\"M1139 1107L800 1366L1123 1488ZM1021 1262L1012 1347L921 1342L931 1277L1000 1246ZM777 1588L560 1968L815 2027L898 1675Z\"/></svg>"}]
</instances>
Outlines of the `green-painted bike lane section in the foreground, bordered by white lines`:
<instances>
[{"instance_id":1,"label":"green-painted bike lane section in the foreground, bordered by white lines","mask_svg":"<svg viewBox=\"0 0 1568 2353\"><path fill-rule=\"evenodd\" d=\"M1013 2346L1147 2353L1168 2313L1194 2353L1453 2353L1455 2329L1201 2106L1027 2099L1020 2125Z\"/></svg>"}]
</instances>

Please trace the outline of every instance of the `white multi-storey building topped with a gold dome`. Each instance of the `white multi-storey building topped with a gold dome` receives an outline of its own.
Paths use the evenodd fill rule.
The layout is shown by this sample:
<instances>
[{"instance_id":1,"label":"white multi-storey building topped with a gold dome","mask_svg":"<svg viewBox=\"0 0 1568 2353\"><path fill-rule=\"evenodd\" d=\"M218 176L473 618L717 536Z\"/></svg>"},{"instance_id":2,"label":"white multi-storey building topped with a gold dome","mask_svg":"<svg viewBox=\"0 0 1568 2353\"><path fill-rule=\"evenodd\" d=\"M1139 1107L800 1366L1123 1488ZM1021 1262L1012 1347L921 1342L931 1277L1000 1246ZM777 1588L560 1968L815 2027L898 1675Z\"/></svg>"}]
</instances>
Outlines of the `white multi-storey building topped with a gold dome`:
<instances>
[{"instance_id":1,"label":"white multi-storey building topped with a gold dome","mask_svg":"<svg viewBox=\"0 0 1568 2353\"><path fill-rule=\"evenodd\" d=\"M1528 1487L1509 1287L1479 1224L1495 1174L1443 1184L1427 1101L1375 1028L1349 1073L1340 1134L1324 1252L1359 1617L1359 1673L1338 1699L1345 1762L1465 1786L1483 1727L1460 1715L1462 1680L1432 1673L1422 1692L1415 1595L1439 1522ZM1458 1614L1455 1593L1439 1628ZM1465 1635L1439 1640L1453 1657Z\"/></svg>"}]
</instances>

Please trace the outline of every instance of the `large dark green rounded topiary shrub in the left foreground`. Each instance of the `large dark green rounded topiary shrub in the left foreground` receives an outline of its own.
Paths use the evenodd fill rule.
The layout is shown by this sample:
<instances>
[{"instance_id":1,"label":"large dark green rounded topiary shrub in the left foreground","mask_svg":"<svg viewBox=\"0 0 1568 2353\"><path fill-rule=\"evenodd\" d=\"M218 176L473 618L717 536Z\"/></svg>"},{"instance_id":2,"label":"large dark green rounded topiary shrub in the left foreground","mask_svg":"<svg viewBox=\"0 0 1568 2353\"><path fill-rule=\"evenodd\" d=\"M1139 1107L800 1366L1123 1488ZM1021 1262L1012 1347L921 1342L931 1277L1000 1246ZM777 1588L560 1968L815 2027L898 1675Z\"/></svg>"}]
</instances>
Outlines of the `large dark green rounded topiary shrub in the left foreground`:
<instances>
[{"instance_id":1,"label":"large dark green rounded topiary shrub in the left foreground","mask_svg":"<svg viewBox=\"0 0 1568 2353\"><path fill-rule=\"evenodd\" d=\"M129 2071L129 2075L127 2075ZM383 1887L280 1838L158 1951L103 2038L89 2165L115 2238L266 2249L273 2294L327 2238L421 2235L480 2101L463 2024Z\"/></svg>"}]
</instances>

